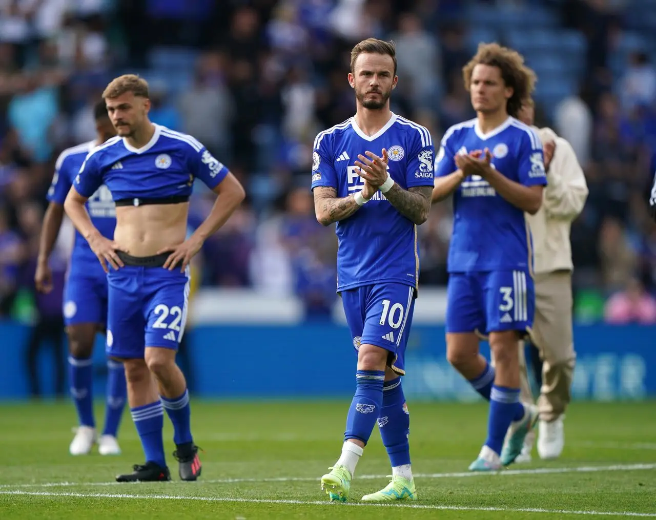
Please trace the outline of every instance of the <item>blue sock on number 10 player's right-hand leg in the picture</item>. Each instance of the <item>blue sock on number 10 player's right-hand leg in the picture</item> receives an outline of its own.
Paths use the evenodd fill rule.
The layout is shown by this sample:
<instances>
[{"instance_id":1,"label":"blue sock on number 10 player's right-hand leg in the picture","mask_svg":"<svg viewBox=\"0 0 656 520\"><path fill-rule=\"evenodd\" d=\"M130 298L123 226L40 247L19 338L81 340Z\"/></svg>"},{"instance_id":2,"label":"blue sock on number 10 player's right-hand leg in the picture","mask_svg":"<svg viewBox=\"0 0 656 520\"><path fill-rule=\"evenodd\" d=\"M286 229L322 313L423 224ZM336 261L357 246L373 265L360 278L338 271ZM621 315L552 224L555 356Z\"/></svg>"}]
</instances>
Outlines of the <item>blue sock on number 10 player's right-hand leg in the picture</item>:
<instances>
[{"instance_id":1,"label":"blue sock on number 10 player's right-hand leg in the picture","mask_svg":"<svg viewBox=\"0 0 656 520\"><path fill-rule=\"evenodd\" d=\"M401 378L386 381L382 388L382 408L378 417L382 443L390 456L392 468L410 464L410 415L405 406Z\"/></svg>"}]
</instances>

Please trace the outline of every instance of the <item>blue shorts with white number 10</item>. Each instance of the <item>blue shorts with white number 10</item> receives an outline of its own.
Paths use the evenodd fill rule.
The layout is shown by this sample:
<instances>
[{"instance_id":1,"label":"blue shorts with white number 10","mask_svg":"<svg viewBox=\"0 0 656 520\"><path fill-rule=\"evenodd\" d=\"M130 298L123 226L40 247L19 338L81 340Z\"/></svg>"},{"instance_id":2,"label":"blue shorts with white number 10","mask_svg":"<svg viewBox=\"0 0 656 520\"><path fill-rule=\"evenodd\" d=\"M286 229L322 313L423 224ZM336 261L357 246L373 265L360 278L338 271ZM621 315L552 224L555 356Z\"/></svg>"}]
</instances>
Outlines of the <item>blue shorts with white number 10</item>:
<instances>
[{"instance_id":1,"label":"blue shorts with white number 10","mask_svg":"<svg viewBox=\"0 0 656 520\"><path fill-rule=\"evenodd\" d=\"M415 310L415 288L402 283L378 283L343 290L341 295L356 351L361 344L384 348L390 352L390 369L405 375L405 347Z\"/></svg>"}]
</instances>

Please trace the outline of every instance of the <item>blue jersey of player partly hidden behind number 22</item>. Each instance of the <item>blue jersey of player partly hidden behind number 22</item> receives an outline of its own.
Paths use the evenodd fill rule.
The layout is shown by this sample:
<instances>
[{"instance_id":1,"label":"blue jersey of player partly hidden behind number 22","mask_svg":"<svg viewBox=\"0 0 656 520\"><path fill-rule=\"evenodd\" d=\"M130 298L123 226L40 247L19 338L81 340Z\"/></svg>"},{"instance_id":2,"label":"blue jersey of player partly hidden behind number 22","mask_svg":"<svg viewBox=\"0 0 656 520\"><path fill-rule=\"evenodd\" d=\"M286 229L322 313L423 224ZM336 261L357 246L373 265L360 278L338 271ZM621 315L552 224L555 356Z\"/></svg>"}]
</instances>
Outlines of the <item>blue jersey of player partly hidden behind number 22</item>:
<instances>
[{"instance_id":1,"label":"blue jersey of player partly hidden behind number 22","mask_svg":"<svg viewBox=\"0 0 656 520\"><path fill-rule=\"evenodd\" d=\"M85 157L94 146L94 142L86 142L67 148L60 153L54 167L52 184L48 190L47 198L49 201L64 204L66 195L73 185L75 176L79 172ZM116 227L116 208L112 201L112 193L107 186L101 184L92 193L86 204L91 222L98 228L98 231L108 239L112 240L114 228ZM80 233L75 230L75 241L73 242L73 254L71 263L75 273L85 273L85 275L97 276L104 278L105 271L102 270L96 254L89 247L89 243ZM79 265L79 264L83 264Z\"/></svg>"}]
</instances>

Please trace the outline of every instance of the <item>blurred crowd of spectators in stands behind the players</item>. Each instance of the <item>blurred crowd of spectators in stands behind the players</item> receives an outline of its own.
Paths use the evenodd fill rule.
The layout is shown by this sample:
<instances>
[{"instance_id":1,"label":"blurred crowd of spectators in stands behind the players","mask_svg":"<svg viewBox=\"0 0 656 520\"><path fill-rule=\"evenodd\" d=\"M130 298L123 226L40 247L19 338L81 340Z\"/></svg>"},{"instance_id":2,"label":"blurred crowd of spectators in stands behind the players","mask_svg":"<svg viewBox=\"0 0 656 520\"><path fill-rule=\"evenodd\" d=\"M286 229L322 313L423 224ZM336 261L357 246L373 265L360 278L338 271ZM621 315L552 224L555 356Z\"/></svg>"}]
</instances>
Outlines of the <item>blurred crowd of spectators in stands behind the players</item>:
<instances>
[{"instance_id":1,"label":"blurred crowd of spectators in stands behind the players","mask_svg":"<svg viewBox=\"0 0 656 520\"><path fill-rule=\"evenodd\" d=\"M308 315L330 313L337 241L314 218L309 172L316 133L354 113L349 50L369 36L396 41L392 110L439 142L474 117L461 78L476 47L472 4L539 5L585 35L576 91L556 106L538 102L536 121L570 140L590 188L572 231L576 313L656 323L656 226L645 204L656 68L653 49L612 63L632 4L617 0L0 0L0 316L60 313L61 289L32 290L54 161L94 138L92 106L127 72L149 80L152 121L194 135L247 188L200 254L201 285L297 294ZM194 198L190 226L213 203L201 186ZM443 203L420 226L424 285L447 281L451 224ZM52 257L59 288L70 232Z\"/></svg>"}]
</instances>

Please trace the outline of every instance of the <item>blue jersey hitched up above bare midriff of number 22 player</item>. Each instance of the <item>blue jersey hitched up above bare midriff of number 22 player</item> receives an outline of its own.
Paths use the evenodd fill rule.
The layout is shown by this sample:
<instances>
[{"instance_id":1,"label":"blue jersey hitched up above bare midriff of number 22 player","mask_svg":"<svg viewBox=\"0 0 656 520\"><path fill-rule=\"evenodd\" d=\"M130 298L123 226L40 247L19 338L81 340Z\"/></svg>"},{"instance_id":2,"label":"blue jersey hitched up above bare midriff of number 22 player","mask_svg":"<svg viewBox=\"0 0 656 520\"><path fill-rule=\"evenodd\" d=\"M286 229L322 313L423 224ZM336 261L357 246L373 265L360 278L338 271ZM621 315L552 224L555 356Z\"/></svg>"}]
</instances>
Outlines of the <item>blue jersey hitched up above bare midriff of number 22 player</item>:
<instances>
[{"instance_id":1,"label":"blue jersey hitched up above bare midriff of number 22 player","mask_svg":"<svg viewBox=\"0 0 656 520\"><path fill-rule=\"evenodd\" d=\"M192 136L155 125L148 144L134 148L116 136L89 152L75 177L75 190L89 197L105 184L113 201L160 199L192 193L199 178L213 189L228 169Z\"/></svg>"}]
</instances>

